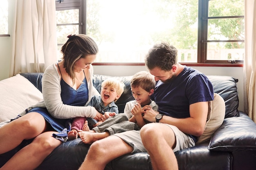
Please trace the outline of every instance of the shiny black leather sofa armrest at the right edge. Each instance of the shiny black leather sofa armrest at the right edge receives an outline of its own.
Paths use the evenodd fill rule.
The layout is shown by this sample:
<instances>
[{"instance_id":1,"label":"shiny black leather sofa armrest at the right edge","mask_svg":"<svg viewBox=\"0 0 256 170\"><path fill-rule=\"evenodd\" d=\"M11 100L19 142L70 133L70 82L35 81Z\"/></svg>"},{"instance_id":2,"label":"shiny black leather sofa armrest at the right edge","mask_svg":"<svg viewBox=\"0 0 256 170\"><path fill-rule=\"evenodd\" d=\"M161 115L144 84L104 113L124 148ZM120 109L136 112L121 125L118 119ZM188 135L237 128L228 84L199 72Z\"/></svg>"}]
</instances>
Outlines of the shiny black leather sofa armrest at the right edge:
<instances>
[{"instance_id":1,"label":"shiny black leather sofa armrest at the right edge","mask_svg":"<svg viewBox=\"0 0 256 170\"><path fill-rule=\"evenodd\" d=\"M256 150L256 124L245 113L226 118L213 134L208 146L214 151Z\"/></svg>"}]
</instances>

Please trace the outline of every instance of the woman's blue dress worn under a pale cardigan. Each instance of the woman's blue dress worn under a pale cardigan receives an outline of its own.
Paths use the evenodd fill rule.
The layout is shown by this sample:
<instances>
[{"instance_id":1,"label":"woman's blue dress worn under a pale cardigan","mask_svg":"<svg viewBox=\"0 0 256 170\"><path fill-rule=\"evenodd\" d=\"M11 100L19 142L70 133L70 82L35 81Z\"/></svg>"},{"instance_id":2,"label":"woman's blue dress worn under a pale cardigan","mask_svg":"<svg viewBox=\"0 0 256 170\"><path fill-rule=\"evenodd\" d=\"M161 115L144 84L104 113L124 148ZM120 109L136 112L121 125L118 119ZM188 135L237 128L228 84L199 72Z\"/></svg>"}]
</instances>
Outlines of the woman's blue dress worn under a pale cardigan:
<instances>
[{"instance_id":1,"label":"woman's blue dress worn under a pale cardigan","mask_svg":"<svg viewBox=\"0 0 256 170\"><path fill-rule=\"evenodd\" d=\"M88 101L88 98L88 85L86 78L83 79L83 83L76 90L70 87L70 85L68 85L61 78L61 100L63 104L72 106L84 106ZM57 132L62 132L71 126L72 119L56 119L51 116L46 108L36 107L31 109L29 112L40 113Z\"/></svg>"}]
</instances>

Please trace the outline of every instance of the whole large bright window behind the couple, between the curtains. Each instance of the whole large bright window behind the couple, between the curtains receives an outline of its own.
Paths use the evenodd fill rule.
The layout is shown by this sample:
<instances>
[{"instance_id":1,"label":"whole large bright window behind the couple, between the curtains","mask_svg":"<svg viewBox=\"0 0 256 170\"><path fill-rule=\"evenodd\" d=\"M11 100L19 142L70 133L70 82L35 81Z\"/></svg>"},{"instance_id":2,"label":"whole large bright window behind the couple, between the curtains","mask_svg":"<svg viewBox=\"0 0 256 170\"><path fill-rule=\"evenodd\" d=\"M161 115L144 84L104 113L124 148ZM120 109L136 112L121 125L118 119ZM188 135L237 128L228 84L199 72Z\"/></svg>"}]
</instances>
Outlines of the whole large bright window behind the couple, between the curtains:
<instances>
[{"instance_id":1,"label":"whole large bright window behind the couple, between the curtains","mask_svg":"<svg viewBox=\"0 0 256 170\"><path fill-rule=\"evenodd\" d=\"M97 63L144 63L162 41L180 63L243 63L244 0L64 0L56 11L58 45L86 33L99 46Z\"/></svg>"}]
</instances>

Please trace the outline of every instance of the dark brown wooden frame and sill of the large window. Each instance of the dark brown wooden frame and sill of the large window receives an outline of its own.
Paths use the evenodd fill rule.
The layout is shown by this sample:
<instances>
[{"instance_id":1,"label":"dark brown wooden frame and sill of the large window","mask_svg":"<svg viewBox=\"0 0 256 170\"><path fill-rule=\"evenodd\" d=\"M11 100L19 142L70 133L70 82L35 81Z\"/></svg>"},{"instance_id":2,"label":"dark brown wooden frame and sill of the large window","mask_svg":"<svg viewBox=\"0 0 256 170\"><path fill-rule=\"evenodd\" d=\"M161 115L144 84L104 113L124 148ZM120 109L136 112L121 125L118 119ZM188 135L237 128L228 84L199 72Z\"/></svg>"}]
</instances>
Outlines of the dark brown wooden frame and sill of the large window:
<instances>
[{"instance_id":1,"label":"dark brown wooden frame and sill of the large window","mask_svg":"<svg viewBox=\"0 0 256 170\"><path fill-rule=\"evenodd\" d=\"M56 1L56 10L79 9L79 34L86 34L86 2L87 0L64 0ZM211 66L211 67L243 67L243 60L207 60L207 40L208 20L216 18L234 18L243 16L226 16L226 17L208 17L209 0L198 0L198 61L197 63L181 63L187 66ZM61 25L61 24L57 24ZM243 40L219 40L218 42L236 42ZM216 40L214 40L216 42ZM58 44L61 45L61 44ZM145 63L93 63L93 65L126 65L126 66L143 66Z\"/></svg>"}]
</instances>

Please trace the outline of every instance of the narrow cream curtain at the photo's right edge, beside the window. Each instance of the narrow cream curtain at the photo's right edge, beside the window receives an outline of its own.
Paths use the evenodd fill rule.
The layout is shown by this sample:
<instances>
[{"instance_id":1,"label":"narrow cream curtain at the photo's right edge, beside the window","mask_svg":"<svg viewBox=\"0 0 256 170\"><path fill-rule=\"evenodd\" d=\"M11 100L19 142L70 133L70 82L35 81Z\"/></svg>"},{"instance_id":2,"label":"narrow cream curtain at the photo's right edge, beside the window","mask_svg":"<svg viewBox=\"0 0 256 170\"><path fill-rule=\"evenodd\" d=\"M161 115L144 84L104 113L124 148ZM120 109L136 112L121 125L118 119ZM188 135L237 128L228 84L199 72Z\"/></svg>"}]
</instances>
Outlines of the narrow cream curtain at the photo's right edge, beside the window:
<instances>
[{"instance_id":1,"label":"narrow cream curtain at the photo's right edge, beside the window","mask_svg":"<svg viewBox=\"0 0 256 170\"><path fill-rule=\"evenodd\" d=\"M245 0L245 113L256 122L256 0Z\"/></svg>"}]
</instances>

